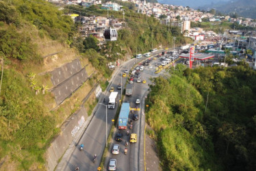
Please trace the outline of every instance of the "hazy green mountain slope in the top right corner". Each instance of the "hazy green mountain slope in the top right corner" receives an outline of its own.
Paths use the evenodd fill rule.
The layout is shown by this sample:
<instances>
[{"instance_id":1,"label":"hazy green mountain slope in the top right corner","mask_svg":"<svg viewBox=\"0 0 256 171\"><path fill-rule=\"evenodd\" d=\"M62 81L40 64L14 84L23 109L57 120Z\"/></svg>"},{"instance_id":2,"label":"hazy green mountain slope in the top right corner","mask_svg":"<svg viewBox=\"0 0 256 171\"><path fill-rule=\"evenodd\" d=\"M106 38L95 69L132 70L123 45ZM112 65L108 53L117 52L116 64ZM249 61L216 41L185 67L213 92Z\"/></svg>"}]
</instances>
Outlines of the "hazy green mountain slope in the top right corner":
<instances>
[{"instance_id":1,"label":"hazy green mountain slope in the top right corner","mask_svg":"<svg viewBox=\"0 0 256 171\"><path fill-rule=\"evenodd\" d=\"M199 7L201 10L216 9L226 14L236 13L245 18L256 18L256 0L233 0Z\"/></svg>"}]
</instances>

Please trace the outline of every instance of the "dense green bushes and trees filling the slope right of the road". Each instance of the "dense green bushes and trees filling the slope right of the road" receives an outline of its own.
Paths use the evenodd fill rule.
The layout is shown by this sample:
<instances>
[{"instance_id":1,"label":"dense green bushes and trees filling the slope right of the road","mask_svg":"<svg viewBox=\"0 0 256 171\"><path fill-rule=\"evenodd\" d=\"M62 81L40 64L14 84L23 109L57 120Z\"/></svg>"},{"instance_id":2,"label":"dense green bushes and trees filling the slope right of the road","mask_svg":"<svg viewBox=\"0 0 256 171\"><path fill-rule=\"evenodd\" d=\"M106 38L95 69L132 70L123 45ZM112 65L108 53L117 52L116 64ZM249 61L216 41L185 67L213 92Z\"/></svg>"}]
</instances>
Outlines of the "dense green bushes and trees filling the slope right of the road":
<instances>
[{"instance_id":1,"label":"dense green bushes and trees filling the slope right of the road","mask_svg":"<svg viewBox=\"0 0 256 171\"><path fill-rule=\"evenodd\" d=\"M237 68L177 68L153 80L146 120L163 170L253 170L256 73Z\"/></svg>"}]
</instances>

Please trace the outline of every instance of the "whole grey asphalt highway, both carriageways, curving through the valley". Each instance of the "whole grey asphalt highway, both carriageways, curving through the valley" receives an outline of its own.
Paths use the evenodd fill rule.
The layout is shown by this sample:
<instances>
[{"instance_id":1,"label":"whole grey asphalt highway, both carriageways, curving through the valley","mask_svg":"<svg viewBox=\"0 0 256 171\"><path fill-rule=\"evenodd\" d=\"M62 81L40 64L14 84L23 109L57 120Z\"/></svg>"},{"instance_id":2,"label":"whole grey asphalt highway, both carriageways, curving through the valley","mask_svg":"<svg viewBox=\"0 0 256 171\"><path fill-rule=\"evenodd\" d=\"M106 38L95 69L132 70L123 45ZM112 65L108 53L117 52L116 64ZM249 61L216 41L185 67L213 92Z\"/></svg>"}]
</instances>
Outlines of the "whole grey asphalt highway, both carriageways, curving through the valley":
<instances>
[{"instance_id":1,"label":"whole grey asphalt highway, both carriageways, curving through the valley","mask_svg":"<svg viewBox=\"0 0 256 171\"><path fill-rule=\"evenodd\" d=\"M157 53L160 53L162 51L159 51ZM155 53L155 54L157 54ZM125 81L127 80L127 77L122 77L122 74L126 69L130 70L132 66L136 62L141 62L145 58L142 57L141 59L132 59L125 63L125 65L118 68L118 72L116 75L114 75L114 79L112 79L112 83L110 86L108 86L108 89L111 87L114 87L114 91L118 91L118 101L120 100L120 90L117 90L116 87L119 83L121 83L121 79L123 82L123 88L125 86ZM157 58L157 61L151 62L151 66L153 66L154 63L159 62L159 59ZM153 64L152 64L153 63ZM135 101L137 98L140 98L140 101L142 101L142 98L144 97L144 93L148 90L150 83L149 78L153 76L154 68L149 68L149 66L145 66L144 70L141 72L142 77L141 79L146 79L146 83L136 83L136 79L133 83L133 95L129 98L125 98L125 102L129 102L131 107L136 107ZM164 70L162 71L164 72ZM160 73L159 73L160 74ZM158 74L158 75L159 75ZM157 75L155 75L157 76ZM123 89L122 88L122 89ZM103 98L99 103L103 103L104 105L101 105L98 103L96 113L94 114L90 124L88 125L86 131L84 132L83 136L81 137L79 141L80 144L84 144L84 150L79 150L79 145L73 150L72 154L68 159L66 159L64 165L62 166L61 170L75 170L76 166L79 166L79 170L97 170L99 167L99 162L101 161L101 157L103 155L103 150L105 148L105 105L107 105L108 102L108 96L110 95L110 92L107 90L105 94L105 103L103 103ZM119 103L119 102L118 102ZM117 104L118 105L118 104ZM140 105L142 105L140 103ZM141 107L141 106L139 106ZM107 109L107 133L110 132L110 128L112 126L112 120L114 119L114 115L116 114L116 109ZM131 120L132 115L129 115L129 120ZM125 142L118 142L117 144L120 144L120 153L119 155L111 156L110 158L117 159L117 170L138 170L139 168L139 155L138 151L139 148L139 140L140 140L140 132L144 130L140 130L140 118L141 114L139 116L139 120L133 121L133 129L129 130L130 133L137 133L138 140L135 144L129 144L129 150L127 155L124 155L123 149L125 146ZM144 120L142 121L144 122ZM129 137L127 137L126 132L123 131L123 139L129 140ZM115 140L112 140L112 142L116 143ZM112 145L110 146L109 150L112 150ZM143 151L143 150L142 150ZM96 154L97 161L95 163L92 162L93 156ZM109 159L106 159L106 163L108 164ZM105 165L105 167L107 167Z\"/></svg>"}]
</instances>

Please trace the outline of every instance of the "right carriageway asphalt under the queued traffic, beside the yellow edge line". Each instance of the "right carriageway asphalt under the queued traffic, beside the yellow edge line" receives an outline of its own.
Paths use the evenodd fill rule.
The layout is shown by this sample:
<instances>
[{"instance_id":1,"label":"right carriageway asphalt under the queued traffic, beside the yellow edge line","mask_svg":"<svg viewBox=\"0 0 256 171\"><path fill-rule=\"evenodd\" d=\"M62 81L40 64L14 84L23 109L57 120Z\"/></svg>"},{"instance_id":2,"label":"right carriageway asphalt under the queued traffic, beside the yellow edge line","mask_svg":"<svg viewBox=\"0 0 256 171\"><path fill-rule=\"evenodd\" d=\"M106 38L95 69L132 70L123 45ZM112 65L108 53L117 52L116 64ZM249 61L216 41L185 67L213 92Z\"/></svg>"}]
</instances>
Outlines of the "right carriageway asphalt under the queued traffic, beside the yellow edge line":
<instances>
[{"instance_id":1,"label":"right carriageway asphalt under the queued traffic, beside the yellow edge line","mask_svg":"<svg viewBox=\"0 0 256 171\"><path fill-rule=\"evenodd\" d=\"M162 51L159 51L162 52ZM157 53L155 53L157 54ZM153 68L149 68L149 66L144 66L144 70L140 71L141 73L141 79L146 80L146 83L137 83L137 77L135 77L133 81L133 94L132 96L125 96L124 102L130 103L131 107L137 107L136 105L136 99L140 99L140 102L142 102L142 98L144 98L145 92L149 89L149 83L151 83L150 78L151 77L157 77L159 75L162 75L164 73L164 70L162 70L161 73L158 75L155 75L155 70L154 66L155 64L159 63L160 60L157 58L157 60L153 60L150 63L150 66L153 66ZM122 73L119 73L119 77L122 75ZM142 109L142 103L138 105L138 108ZM129 124L128 127L130 126L130 120L132 120L133 114L139 114L139 120L133 120L133 128L128 129L129 130L129 135L131 133L136 133L138 135L138 139L136 143L129 143L128 148L128 153L125 155L124 149L125 149L125 141L129 142L129 135L127 136L126 130L118 130L116 129L117 132L123 133L123 141L122 142L116 142L115 136L112 139L112 144L110 145L109 148L109 156L107 157L105 161L105 169L107 170L108 164L110 159L116 159L117 160L117 167L116 170L139 170L139 151L142 152L144 149L140 149L140 133L144 130L140 130L140 119L142 118L142 111L133 111L133 113L129 114ZM144 120L142 120L144 122ZM116 135L115 133L115 135ZM142 142L144 143L144 142ZM112 148L114 144L119 144L120 146L120 152L118 155L113 155ZM144 168L144 167L142 167Z\"/></svg>"}]
</instances>

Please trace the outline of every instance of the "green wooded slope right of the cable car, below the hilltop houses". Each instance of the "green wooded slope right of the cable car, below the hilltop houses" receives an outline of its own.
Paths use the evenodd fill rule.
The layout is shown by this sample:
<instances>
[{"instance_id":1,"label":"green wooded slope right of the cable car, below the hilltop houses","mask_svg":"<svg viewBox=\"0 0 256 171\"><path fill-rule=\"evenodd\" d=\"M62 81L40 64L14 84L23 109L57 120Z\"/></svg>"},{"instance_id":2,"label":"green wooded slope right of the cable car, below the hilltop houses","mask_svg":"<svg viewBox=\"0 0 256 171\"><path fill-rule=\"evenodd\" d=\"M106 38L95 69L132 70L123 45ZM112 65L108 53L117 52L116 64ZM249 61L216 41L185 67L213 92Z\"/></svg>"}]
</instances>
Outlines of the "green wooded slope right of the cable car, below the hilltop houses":
<instances>
[{"instance_id":1,"label":"green wooded slope right of the cable car, below the hilltop houses","mask_svg":"<svg viewBox=\"0 0 256 171\"><path fill-rule=\"evenodd\" d=\"M105 46L101 47L101 55L105 55L110 62L123 58L125 53L134 55L136 53L145 53L159 46L172 47L172 38L174 36L177 38L175 41L177 46L192 41L183 37L179 27L162 25L154 17L129 10L129 3L127 3L125 9L126 24L124 23L124 25L126 27L118 30L118 40L107 42ZM68 9L66 8L66 12L77 12L77 14L83 16L94 14L96 16L107 17L107 10L101 10L96 5L92 5L86 9L80 6L69 6ZM109 11L109 16L123 19L122 12ZM81 40L80 43L74 43L73 45L79 49L81 48L79 44L81 45Z\"/></svg>"}]
</instances>

